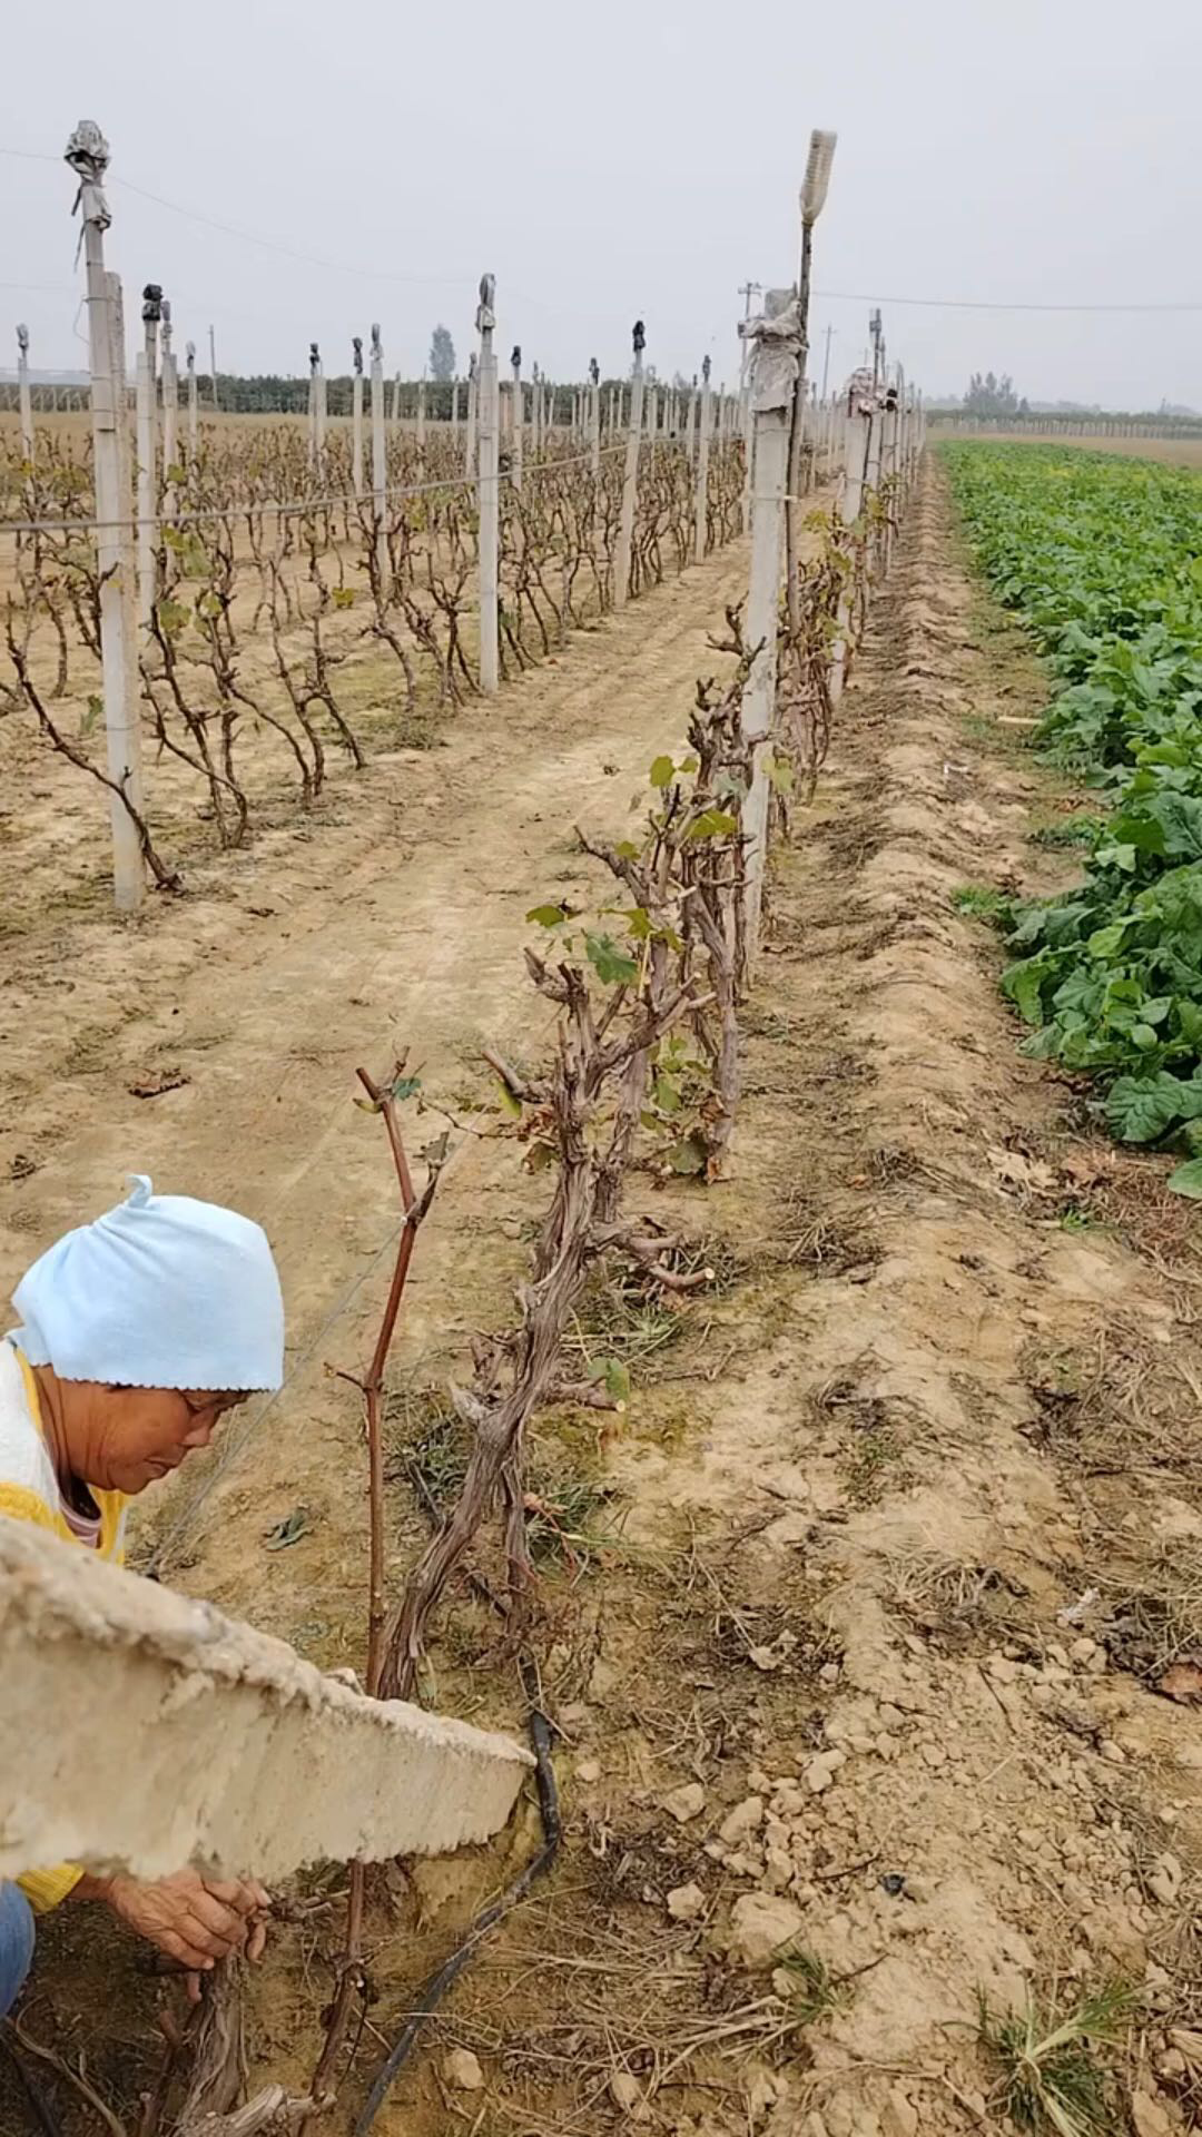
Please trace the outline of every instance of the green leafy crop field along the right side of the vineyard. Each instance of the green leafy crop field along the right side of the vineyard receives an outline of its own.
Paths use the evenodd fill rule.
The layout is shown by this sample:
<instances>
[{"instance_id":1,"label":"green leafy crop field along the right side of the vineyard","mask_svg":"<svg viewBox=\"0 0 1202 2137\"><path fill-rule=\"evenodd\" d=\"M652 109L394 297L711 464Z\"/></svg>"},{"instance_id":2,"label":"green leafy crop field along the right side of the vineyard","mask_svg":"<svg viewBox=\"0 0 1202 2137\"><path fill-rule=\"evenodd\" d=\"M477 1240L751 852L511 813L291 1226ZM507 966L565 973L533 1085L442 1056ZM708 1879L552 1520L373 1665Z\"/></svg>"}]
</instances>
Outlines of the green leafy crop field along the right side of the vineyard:
<instances>
[{"instance_id":1,"label":"green leafy crop field along the right side of the vineyard","mask_svg":"<svg viewBox=\"0 0 1202 2137\"><path fill-rule=\"evenodd\" d=\"M1084 880L1003 904L1024 1051L1101 1079L1129 1143L1202 1195L1202 477L1057 447L945 444L960 519L1054 695L1037 733L1095 789Z\"/></svg>"}]
</instances>

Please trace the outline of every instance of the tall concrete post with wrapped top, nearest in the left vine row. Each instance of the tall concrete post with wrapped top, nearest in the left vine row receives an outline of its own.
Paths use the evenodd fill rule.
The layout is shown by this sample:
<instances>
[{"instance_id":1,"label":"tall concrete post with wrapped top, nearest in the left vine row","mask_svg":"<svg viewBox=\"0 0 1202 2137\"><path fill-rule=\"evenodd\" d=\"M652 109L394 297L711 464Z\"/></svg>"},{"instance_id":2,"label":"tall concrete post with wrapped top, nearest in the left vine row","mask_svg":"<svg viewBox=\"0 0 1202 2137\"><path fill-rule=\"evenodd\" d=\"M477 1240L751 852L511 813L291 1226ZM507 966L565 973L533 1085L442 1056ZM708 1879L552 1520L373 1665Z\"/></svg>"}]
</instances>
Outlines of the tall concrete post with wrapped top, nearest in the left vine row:
<instances>
[{"instance_id":1,"label":"tall concrete post with wrapped top, nearest in the left vine row","mask_svg":"<svg viewBox=\"0 0 1202 2137\"><path fill-rule=\"evenodd\" d=\"M141 808L141 724L133 633L122 588L122 526L130 500L122 494L122 451L113 393L113 308L105 274L105 231L109 203L105 171L109 143L94 120L81 120L66 143L66 162L79 180L75 205L83 222L88 274L88 350L92 368L92 453L96 474L96 558L101 568L101 669L105 697L105 744L109 778ZM128 551L126 551L128 556ZM113 891L118 912L133 912L143 895L141 842L137 825L118 795L111 797Z\"/></svg>"}]
</instances>

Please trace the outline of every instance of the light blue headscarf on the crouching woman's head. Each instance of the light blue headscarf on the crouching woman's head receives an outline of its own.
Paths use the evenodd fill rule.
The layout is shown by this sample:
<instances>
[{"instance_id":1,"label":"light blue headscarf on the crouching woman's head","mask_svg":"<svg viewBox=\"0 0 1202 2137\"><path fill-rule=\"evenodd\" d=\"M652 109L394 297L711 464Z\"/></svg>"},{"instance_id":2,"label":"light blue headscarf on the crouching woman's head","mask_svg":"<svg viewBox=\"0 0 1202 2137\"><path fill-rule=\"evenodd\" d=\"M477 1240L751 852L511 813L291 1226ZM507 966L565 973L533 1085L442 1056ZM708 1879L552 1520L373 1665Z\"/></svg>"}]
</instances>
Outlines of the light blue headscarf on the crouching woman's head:
<instances>
[{"instance_id":1,"label":"light blue headscarf on the crouching woman's head","mask_svg":"<svg viewBox=\"0 0 1202 2137\"><path fill-rule=\"evenodd\" d=\"M276 1389L284 1301L267 1235L190 1195L133 1195L64 1233L13 1293L30 1366L109 1387Z\"/></svg>"}]
</instances>

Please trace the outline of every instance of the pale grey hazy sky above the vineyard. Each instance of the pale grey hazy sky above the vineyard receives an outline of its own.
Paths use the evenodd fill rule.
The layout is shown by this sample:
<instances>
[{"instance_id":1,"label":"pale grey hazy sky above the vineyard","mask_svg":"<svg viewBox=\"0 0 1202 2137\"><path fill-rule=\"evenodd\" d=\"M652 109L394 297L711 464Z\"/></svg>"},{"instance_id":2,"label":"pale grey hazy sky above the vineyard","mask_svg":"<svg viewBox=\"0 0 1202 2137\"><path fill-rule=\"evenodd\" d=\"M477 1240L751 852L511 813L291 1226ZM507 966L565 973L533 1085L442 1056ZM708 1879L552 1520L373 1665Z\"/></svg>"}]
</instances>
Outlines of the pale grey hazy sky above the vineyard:
<instances>
[{"instance_id":1,"label":"pale grey hazy sky above the vineyard","mask_svg":"<svg viewBox=\"0 0 1202 2137\"><path fill-rule=\"evenodd\" d=\"M738 284L791 280L832 126L819 376L826 327L843 376L879 299L928 391L992 365L1039 400L1202 406L1202 0L58 0L4 9L2 58L0 147L51 158L0 156L4 365L17 318L34 363L86 363L79 118L113 147L126 316L163 282L180 357L207 363L212 321L225 370L299 374L314 338L334 374L379 318L413 376L443 318L464 363L488 267L503 357L560 378L625 368L637 314L663 376L710 350L734 378Z\"/></svg>"}]
</instances>

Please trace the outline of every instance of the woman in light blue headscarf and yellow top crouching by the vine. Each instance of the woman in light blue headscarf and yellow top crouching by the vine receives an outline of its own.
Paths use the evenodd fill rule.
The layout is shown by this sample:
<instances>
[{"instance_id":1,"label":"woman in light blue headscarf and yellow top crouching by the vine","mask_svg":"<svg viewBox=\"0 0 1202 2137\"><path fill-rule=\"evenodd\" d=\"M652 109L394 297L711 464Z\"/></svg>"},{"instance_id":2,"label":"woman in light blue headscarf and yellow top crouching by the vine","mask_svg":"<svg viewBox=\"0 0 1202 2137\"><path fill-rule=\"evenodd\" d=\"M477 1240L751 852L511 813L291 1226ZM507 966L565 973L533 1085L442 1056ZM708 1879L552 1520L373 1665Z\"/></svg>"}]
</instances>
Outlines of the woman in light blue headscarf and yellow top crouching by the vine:
<instances>
[{"instance_id":1,"label":"woman in light blue headscarf and yellow top crouching by the vine","mask_svg":"<svg viewBox=\"0 0 1202 2137\"><path fill-rule=\"evenodd\" d=\"M0 1340L0 1515L122 1560L135 1492L207 1447L220 1417L282 1387L284 1306L265 1233L188 1195L128 1201L68 1231L13 1293L21 1327ZM0 1806L2 1808L2 1806ZM0 1885L0 2013L34 1953L34 1917L101 1900L197 1975L235 1949L259 1957L261 1885L90 1876L73 1863Z\"/></svg>"}]
</instances>

